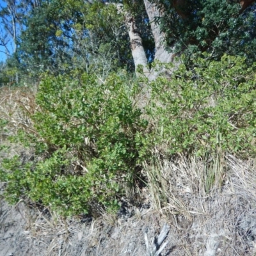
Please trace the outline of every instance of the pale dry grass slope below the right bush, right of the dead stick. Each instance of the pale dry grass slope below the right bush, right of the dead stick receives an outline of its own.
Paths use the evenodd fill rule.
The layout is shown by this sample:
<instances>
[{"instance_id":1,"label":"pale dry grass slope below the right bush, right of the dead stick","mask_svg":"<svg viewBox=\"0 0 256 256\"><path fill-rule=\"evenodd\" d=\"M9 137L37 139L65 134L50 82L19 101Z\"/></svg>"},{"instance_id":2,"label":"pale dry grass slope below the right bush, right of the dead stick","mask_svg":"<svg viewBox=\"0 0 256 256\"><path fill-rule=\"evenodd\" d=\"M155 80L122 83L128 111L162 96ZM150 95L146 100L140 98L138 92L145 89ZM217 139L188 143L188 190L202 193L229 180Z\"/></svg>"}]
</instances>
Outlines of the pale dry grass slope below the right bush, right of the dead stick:
<instances>
[{"instance_id":1,"label":"pale dry grass slope below the right bush, right of the dead stick","mask_svg":"<svg viewBox=\"0 0 256 256\"><path fill-rule=\"evenodd\" d=\"M254 255L255 160L180 157L145 168L151 201L183 240L172 255Z\"/></svg>"}]
</instances>

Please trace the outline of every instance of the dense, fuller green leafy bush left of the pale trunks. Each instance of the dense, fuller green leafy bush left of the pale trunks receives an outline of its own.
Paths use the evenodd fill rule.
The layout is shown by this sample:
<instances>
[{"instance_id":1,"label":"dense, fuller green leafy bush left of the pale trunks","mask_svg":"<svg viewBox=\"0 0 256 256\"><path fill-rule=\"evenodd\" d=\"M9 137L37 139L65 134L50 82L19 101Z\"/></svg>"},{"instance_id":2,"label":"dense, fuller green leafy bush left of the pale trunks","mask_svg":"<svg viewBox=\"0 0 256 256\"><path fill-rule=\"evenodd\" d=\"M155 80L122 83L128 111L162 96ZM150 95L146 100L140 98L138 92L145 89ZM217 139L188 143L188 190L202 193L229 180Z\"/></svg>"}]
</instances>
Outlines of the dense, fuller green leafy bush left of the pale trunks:
<instances>
[{"instance_id":1,"label":"dense, fuller green leafy bush left of the pale trunks","mask_svg":"<svg viewBox=\"0 0 256 256\"><path fill-rule=\"evenodd\" d=\"M115 209L125 186L140 175L139 138L147 122L132 104L134 90L127 93L117 75L105 83L88 74L46 77L30 116L33 132L19 133L40 159L33 166L17 157L5 161L7 197L29 196L62 214Z\"/></svg>"}]
</instances>

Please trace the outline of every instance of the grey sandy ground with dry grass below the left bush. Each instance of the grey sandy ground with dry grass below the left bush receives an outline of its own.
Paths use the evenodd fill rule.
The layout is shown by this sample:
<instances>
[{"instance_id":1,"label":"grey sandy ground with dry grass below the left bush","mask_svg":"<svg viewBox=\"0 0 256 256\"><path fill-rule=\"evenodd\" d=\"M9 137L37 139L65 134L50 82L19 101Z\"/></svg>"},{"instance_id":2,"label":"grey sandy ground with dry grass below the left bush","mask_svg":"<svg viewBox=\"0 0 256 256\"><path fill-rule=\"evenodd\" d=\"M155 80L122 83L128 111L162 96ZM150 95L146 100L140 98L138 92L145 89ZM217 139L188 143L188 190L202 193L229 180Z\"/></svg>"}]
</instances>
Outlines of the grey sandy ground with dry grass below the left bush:
<instances>
[{"instance_id":1,"label":"grey sandy ground with dry grass below the left bush","mask_svg":"<svg viewBox=\"0 0 256 256\"><path fill-rule=\"evenodd\" d=\"M1 256L145 255L143 234L147 231L151 243L161 230L154 214L145 219L123 216L118 220L115 216L104 216L101 220L92 220L81 216L76 220L54 220L49 212L42 214L22 203L15 207L2 199L0 206ZM147 215L147 209L144 212ZM172 247L169 244L166 250L171 252Z\"/></svg>"}]
</instances>

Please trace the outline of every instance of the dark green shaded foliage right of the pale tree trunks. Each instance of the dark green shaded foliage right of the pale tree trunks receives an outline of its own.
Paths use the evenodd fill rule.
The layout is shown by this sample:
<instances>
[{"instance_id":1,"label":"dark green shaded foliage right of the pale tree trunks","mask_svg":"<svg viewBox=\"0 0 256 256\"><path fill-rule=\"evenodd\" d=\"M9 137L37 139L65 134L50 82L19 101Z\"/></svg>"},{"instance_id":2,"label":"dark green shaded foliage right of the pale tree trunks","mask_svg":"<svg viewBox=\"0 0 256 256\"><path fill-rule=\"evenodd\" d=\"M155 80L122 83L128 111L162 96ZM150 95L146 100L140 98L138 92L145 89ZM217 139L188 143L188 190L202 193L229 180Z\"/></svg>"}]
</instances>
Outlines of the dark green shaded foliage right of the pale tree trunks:
<instances>
[{"instance_id":1,"label":"dark green shaded foliage right of the pale tree trunks","mask_svg":"<svg viewBox=\"0 0 256 256\"><path fill-rule=\"evenodd\" d=\"M169 2L159 0L168 10L159 21L175 51L189 56L207 51L213 58L225 52L255 61L255 7L240 13L240 1L187 0L177 11Z\"/></svg>"}]
</instances>

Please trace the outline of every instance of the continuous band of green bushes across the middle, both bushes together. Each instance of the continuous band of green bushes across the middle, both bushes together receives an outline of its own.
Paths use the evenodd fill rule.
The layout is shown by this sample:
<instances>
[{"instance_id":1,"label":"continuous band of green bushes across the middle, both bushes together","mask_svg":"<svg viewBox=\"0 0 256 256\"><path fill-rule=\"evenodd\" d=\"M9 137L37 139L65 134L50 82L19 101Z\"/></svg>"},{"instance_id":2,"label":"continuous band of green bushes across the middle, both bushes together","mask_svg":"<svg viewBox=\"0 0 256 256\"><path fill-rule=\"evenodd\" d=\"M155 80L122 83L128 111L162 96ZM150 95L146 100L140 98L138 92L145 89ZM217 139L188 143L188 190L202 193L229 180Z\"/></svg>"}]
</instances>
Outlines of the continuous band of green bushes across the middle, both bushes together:
<instances>
[{"instance_id":1,"label":"continuous band of green bushes across the middle, both bushes together","mask_svg":"<svg viewBox=\"0 0 256 256\"><path fill-rule=\"evenodd\" d=\"M64 215L99 214L148 185L161 207L170 200L159 193L168 186L157 171L163 161L205 159L198 184L207 193L223 182L225 154L255 157L255 65L244 58L196 59L193 70L180 65L171 79L140 81L150 88L145 109L134 103L140 83L127 79L45 76L35 102L16 100L24 118L10 138L35 148L35 161L4 159L0 179L10 202L26 197ZM12 115L0 124L10 129Z\"/></svg>"}]
</instances>

